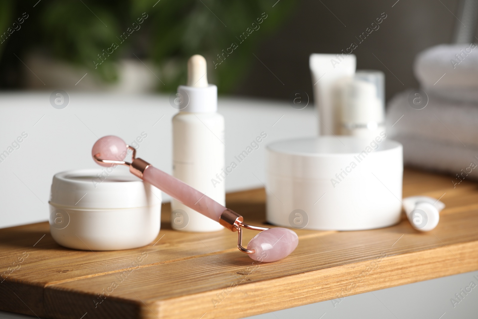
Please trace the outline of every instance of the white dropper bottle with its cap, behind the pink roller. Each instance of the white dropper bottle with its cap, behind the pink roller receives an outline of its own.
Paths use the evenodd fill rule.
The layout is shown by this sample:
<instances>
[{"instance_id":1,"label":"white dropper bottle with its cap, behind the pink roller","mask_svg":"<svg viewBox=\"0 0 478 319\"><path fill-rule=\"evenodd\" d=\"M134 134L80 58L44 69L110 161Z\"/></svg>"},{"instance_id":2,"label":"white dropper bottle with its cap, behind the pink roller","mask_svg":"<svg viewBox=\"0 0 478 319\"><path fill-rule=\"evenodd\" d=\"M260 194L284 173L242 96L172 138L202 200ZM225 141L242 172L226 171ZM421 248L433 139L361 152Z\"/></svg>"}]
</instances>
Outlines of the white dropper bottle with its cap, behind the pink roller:
<instances>
[{"instance_id":1,"label":"white dropper bottle with its cap, behind the pink roller","mask_svg":"<svg viewBox=\"0 0 478 319\"><path fill-rule=\"evenodd\" d=\"M187 86L178 87L181 110L173 117L173 176L219 204L226 204L224 179L224 117L217 113L217 87L207 83L206 59L187 62ZM171 201L171 225L181 231L219 231L214 220Z\"/></svg>"}]
</instances>

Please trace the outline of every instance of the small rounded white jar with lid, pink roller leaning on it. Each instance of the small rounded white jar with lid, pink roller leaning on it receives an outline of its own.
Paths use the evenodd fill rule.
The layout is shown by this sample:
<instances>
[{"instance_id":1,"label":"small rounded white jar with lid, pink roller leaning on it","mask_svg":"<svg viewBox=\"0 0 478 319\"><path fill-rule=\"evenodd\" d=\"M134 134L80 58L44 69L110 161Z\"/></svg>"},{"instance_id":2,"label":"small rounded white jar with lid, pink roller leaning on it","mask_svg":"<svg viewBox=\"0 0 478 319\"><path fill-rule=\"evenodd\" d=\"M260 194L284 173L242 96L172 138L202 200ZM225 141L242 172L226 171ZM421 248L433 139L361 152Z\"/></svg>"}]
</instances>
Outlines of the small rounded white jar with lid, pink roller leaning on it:
<instances>
[{"instance_id":1,"label":"small rounded white jar with lid, pink roller leaning on it","mask_svg":"<svg viewBox=\"0 0 478 319\"><path fill-rule=\"evenodd\" d=\"M120 168L54 175L49 204L52 237L68 248L131 249L160 230L161 191Z\"/></svg>"}]
</instances>

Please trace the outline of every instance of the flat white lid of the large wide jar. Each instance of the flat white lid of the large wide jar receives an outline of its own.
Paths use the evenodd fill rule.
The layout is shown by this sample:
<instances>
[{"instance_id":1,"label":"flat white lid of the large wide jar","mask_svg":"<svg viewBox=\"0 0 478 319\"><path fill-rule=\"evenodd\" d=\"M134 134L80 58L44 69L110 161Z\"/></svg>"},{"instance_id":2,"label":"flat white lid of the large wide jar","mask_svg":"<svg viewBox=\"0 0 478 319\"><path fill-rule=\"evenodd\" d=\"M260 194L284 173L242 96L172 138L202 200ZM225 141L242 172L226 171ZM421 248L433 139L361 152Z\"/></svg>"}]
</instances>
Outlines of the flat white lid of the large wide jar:
<instances>
[{"instance_id":1,"label":"flat white lid of the large wide jar","mask_svg":"<svg viewBox=\"0 0 478 319\"><path fill-rule=\"evenodd\" d=\"M385 137L383 133L374 139L339 135L275 142L267 146L267 169L275 176L330 181L335 174L353 171L348 179L362 178L382 166L402 167L402 144Z\"/></svg>"}]
</instances>

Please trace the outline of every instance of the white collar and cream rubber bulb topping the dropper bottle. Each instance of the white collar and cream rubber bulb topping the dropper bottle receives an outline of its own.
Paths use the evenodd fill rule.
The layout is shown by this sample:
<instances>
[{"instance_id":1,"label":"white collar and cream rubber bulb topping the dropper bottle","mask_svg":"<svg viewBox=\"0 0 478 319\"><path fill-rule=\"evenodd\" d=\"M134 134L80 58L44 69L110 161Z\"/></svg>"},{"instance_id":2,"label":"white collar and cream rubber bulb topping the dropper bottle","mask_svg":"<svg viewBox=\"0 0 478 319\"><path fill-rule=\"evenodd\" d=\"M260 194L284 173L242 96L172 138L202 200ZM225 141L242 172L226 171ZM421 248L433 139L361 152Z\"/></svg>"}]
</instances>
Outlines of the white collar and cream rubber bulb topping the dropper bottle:
<instances>
[{"instance_id":1,"label":"white collar and cream rubber bulb topping the dropper bottle","mask_svg":"<svg viewBox=\"0 0 478 319\"><path fill-rule=\"evenodd\" d=\"M180 111L212 113L217 111L217 86L207 83L207 64L202 55L193 55L187 61L187 85L180 85Z\"/></svg>"}]
</instances>

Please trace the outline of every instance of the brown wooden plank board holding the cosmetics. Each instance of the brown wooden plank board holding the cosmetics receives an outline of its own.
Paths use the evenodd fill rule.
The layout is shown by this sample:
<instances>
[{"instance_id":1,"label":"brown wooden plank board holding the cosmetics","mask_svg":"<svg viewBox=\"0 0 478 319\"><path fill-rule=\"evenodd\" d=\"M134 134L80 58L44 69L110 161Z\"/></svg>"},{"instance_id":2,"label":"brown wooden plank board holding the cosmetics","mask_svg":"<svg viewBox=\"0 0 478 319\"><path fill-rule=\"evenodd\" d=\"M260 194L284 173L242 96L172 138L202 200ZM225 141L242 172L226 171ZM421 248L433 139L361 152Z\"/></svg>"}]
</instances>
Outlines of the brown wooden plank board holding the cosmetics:
<instances>
[{"instance_id":1,"label":"brown wooden plank board holding the cosmetics","mask_svg":"<svg viewBox=\"0 0 478 319\"><path fill-rule=\"evenodd\" d=\"M404 216L370 231L297 230L297 249L270 264L240 253L236 233L173 231L169 204L158 238L139 249L63 248L46 222L1 229L0 309L47 318L241 318L477 270L478 184L453 188L449 176L407 169L403 196L412 195L442 197L435 230L415 231ZM227 204L251 224L265 221L263 189L228 194ZM244 241L256 233L245 230Z\"/></svg>"}]
</instances>

